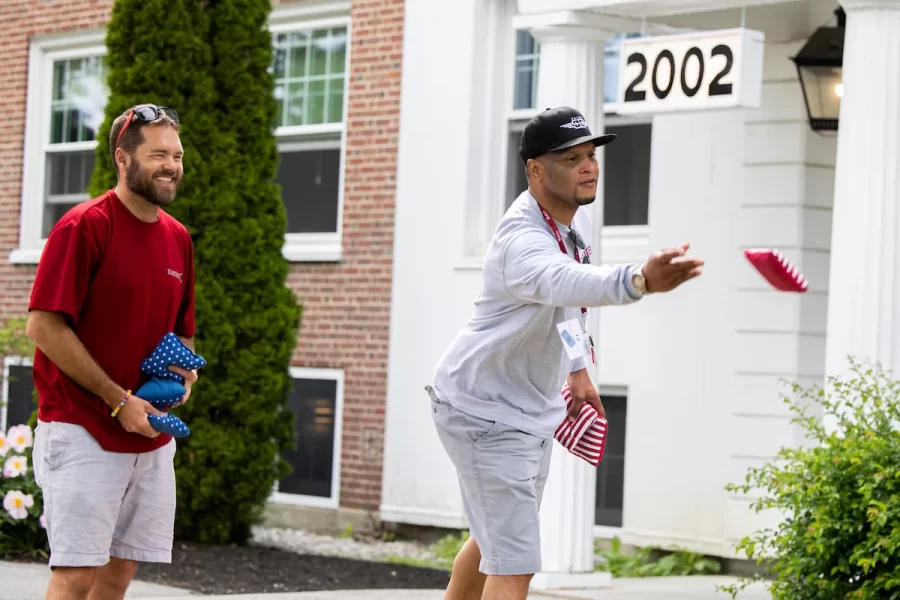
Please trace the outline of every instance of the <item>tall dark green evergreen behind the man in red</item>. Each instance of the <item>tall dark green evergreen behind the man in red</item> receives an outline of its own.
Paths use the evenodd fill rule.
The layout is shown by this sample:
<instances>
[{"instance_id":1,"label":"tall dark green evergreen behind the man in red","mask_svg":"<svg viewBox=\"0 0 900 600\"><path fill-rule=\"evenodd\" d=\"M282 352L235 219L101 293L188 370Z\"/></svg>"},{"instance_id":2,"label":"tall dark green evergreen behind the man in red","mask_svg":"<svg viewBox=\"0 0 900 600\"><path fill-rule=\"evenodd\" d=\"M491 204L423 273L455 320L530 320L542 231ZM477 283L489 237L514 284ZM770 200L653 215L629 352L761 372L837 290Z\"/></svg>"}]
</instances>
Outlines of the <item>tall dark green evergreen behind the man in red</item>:
<instances>
[{"instance_id":1,"label":"tall dark green evergreen behind the man in red","mask_svg":"<svg viewBox=\"0 0 900 600\"><path fill-rule=\"evenodd\" d=\"M181 539L245 541L292 444L300 309L281 254L269 11L268 0L117 0L108 29L100 139L137 102L181 117L184 183L167 210L194 240L196 345L209 363L176 409L192 432L175 459ZM92 189L101 193L115 182L102 146Z\"/></svg>"}]
</instances>

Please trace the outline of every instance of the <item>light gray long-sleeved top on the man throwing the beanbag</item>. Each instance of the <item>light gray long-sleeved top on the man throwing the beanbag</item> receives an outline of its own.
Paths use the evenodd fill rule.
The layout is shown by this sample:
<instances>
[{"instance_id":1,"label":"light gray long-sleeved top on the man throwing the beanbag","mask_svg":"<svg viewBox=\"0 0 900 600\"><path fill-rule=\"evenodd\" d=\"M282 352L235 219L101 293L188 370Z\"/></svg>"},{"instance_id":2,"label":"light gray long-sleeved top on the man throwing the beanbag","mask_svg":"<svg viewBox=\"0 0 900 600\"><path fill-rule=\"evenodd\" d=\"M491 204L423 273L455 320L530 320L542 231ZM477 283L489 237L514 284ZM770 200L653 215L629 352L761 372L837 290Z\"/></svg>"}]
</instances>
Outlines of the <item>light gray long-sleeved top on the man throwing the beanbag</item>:
<instances>
[{"instance_id":1,"label":"light gray long-sleeved top on the man throwing the beanbag","mask_svg":"<svg viewBox=\"0 0 900 600\"><path fill-rule=\"evenodd\" d=\"M572 226L590 255L587 209L578 209ZM586 366L569 358L557 324L580 320L581 307L640 297L631 284L637 265L579 264L569 228L557 227L567 254L534 197L525 191L516 199L485 255L474 314L434 375L435 394L456 409L542 438L565 419L560 390L569 373Z\"/></svg>"}]
</instances>

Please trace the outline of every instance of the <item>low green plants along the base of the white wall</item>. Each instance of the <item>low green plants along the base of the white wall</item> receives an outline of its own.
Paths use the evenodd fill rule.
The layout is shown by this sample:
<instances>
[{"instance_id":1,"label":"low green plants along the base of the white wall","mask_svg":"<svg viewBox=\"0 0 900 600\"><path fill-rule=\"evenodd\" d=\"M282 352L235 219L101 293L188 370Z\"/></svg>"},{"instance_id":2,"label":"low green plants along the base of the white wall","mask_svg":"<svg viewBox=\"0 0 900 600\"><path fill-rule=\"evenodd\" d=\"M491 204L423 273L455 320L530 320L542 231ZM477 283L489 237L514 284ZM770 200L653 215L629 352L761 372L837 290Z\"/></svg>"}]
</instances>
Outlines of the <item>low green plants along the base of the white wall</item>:
<instances>
[{"instance_id":1,"label":"low green plants along the base of the white wall","mask_svg":"<svg viewBox=\"0 0 900 600\"><path fill-rule=\"evenodd\" d=\"M632 554L622 552L622 542L613 538L612 548L595 550L595 571L604 571L613 577L675 577L682 575L713 575L721 566L702 554L678 550L653 559L652 548L638 548Z\"/></svg>"}]
</instances>

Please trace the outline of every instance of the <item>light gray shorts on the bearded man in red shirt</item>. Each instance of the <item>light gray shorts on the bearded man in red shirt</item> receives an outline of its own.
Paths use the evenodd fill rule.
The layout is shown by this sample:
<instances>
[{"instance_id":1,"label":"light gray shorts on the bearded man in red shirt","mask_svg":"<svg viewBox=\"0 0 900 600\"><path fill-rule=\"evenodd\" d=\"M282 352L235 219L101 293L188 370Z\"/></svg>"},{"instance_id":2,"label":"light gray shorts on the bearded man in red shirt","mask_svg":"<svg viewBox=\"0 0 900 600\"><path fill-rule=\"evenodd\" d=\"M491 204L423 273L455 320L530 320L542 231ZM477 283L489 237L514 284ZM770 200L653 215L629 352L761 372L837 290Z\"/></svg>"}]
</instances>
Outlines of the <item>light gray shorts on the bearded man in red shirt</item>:
<instances>
[{"instance_id":1,"label":"light gray shorts on the bearded man in red shirt","mask_svg":"<svg viewBox=\"0 0 900 600\"><path fill-rule=\"evenodd\" d=\"M110 556L172 561L175 440L144 454L107 452L83 427L38 422L34 478L44 497L51 567Z\"/></svg>"}]
</instances>

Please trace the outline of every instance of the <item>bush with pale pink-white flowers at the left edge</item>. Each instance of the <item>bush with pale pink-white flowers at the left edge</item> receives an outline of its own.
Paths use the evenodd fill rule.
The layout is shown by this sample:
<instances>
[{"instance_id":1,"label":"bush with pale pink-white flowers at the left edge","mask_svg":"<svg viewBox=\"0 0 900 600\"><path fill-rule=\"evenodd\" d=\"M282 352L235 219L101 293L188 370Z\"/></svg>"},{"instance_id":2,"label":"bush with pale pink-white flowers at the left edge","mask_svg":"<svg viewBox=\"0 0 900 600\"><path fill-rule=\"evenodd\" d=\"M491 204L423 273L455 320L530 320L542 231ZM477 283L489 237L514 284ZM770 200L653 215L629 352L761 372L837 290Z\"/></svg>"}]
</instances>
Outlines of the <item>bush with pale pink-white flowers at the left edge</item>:
<instances>
[{"instance_id":1,"label":"bush with pale pink-white flowers at the left edge","mask_svg":"<svg viewBox=\"0 0 900 600\"><path fill-rule=\"evenodd\" d=\"M0 556L49 551L41 489L31 463L33 433L27 425L0 431Z\"/></svg>"}]
</instances>

